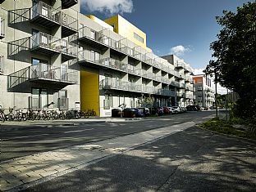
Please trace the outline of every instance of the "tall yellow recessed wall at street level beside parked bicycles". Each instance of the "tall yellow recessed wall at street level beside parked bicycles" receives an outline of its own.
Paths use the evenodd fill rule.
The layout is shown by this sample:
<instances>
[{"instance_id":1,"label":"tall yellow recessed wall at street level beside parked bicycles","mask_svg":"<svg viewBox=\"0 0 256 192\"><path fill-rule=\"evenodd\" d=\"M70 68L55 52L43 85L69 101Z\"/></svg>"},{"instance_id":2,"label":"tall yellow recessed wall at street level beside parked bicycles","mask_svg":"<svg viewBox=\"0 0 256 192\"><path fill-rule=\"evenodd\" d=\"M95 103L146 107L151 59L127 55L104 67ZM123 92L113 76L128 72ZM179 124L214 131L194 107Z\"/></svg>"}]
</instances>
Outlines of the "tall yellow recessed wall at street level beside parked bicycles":
<instances>
[{"instance_id":1,"label":"tall yellow recessed wall at street level beside parked bicycles","mask_svg":"<svg viewBox=\"0 0 256 192\"><path fill-rule=\"evenodd\" d=\"M81 110L94 109L99 116L98 74L80 72Z\"/></svg>"}]
</instances>

